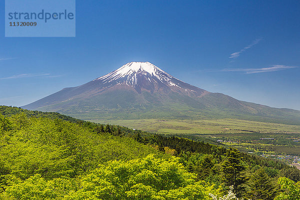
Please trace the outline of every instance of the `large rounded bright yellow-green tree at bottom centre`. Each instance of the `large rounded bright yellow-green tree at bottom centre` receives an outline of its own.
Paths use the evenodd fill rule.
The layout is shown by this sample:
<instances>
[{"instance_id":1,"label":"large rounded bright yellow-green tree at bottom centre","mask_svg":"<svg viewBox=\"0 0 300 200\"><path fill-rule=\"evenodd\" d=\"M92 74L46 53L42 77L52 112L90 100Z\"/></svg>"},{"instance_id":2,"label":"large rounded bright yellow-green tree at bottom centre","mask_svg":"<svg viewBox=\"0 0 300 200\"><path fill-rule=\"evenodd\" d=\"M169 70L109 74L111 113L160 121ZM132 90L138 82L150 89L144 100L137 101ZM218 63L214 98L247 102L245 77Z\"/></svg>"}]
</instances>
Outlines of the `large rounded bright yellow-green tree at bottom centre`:
<instances>
[{"instance_id":1,"label":"large rounded bright yellow-green tree at bottom centre","mask_svg":"<svg viewBox=\"0 0 300 200\"><path fill-rule=\"evenodd\" d=\"M111 161L82 178L81 189L67 199L210 199L222 194L213 184L195 181L178 158L148 155L143 159Z\"/></svg>"}]
</instances>

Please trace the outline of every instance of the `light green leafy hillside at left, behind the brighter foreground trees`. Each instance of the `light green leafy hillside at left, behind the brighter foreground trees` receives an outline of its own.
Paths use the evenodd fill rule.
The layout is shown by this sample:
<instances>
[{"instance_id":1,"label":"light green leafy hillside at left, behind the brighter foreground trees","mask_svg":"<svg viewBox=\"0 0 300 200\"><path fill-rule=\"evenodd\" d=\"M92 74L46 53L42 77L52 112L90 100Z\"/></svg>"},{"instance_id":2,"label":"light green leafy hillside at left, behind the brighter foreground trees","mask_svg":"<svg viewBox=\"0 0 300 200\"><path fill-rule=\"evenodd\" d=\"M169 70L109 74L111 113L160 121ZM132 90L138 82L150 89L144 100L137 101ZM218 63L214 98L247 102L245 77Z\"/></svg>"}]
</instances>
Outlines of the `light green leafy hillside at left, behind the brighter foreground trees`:
<instances>
[{"instance_id":1,"label":"light green leafy hillside at left, behind the brighter foreground trees","mask_svg":"<svg viewBox=\"0 0 300 200\"><path fill-rule=\"evenodd\" d=\"M24 114L0 119L5 124L0 134L2 184L6 174L22 179L36 173L46 178L75 177L108 160L128 160L157 152L131 138L96 134L88 126L61 119Z\"/></svg>"}]
</instances>

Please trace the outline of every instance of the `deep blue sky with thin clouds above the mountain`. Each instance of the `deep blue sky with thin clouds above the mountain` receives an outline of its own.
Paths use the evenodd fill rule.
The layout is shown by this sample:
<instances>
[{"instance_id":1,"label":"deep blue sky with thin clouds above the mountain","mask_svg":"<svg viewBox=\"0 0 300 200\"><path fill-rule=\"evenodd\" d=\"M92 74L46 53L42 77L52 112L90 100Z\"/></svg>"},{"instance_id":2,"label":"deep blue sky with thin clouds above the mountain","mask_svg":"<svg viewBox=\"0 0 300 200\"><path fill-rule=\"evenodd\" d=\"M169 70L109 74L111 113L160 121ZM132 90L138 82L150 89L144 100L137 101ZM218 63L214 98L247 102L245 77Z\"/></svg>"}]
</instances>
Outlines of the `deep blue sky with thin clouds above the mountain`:
<instances>
[{"instance_id":1,"label":"deep blue sky with thin clouds above the mountain","mask_svg":"<svg viewBox=\"0 0 300 200\"><path fill-rule=\"evenodd\" d=\"M76 37L4 37L4 1L0 15L0 104L149 61L211 92L300 110L298 0L77 0Z\"/></svg>"}]
</instances>

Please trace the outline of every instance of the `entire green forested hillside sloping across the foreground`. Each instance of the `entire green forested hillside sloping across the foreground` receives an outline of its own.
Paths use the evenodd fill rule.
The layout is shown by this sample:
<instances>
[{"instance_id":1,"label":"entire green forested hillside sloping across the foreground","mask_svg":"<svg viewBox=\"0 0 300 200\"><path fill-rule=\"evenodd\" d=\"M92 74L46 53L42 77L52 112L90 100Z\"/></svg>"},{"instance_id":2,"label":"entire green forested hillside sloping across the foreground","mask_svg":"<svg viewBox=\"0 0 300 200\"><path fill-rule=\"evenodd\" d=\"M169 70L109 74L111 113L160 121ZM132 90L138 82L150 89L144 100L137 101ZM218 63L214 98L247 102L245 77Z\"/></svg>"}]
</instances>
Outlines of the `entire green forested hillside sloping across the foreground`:
<instances>
[{"instance_id":1,"label":"entire green forested hillside sloping across the foreground","mask_svg":"<svg viewBox=\"0 0 300 200\"><path fill-rule=\"evenodd\" d=\"M236 148L0 106L0 199L300 199L300 170Z\"/></svg>"}]
</instances>

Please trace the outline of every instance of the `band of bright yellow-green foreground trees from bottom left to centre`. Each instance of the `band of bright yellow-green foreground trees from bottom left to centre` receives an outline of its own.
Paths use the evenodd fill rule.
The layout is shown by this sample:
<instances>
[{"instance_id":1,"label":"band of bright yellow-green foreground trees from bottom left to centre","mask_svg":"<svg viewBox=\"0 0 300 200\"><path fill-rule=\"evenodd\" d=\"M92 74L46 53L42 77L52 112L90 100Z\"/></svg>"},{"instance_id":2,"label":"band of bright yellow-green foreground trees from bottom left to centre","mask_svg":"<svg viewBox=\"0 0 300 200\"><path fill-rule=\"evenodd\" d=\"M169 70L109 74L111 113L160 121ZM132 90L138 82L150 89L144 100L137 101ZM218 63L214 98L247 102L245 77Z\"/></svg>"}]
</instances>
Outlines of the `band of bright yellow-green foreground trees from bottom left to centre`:
<instances>
[{"instance_id":1,"label":"band of bright yellow-green foreground trees from bottom left to centre","mask_svg":"<svg viewBox=\"0 0 300 200\"><path fill-rule=\"evenodd\" d=\"M220 187L196 181L178 162L155 158L153 154L143 159L110 161L81 180L54 178L46 180L39 174L21 181L12 178L2 193L3 199L212 199L210 194L221 196Z\"/></svg>"}]
</instances>

